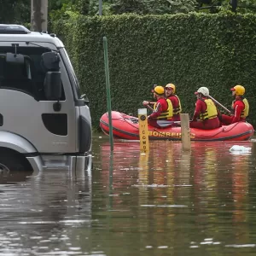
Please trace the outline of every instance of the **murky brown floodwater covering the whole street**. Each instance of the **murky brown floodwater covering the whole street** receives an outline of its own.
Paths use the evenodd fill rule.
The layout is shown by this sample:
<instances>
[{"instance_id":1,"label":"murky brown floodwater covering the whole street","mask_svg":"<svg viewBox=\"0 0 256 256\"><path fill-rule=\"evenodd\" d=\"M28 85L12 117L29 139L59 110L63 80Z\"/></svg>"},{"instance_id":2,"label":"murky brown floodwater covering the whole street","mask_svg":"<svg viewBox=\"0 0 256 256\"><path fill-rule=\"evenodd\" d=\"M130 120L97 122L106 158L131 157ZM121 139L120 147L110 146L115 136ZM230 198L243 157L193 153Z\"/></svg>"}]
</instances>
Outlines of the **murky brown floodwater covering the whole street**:
<instances>
[{"instance_id":1,"label":"murky brown floodwater covering the whole street","mask_svg":"<svg viewBox=\"0 0 256 256\"><path fill-rule=\"evenodd\" d=\"M254 255L256 142L94 137L92 173L0 179L0 255ZM251 150L230 153L233 145Z\"/></svg>"}]
</instances>

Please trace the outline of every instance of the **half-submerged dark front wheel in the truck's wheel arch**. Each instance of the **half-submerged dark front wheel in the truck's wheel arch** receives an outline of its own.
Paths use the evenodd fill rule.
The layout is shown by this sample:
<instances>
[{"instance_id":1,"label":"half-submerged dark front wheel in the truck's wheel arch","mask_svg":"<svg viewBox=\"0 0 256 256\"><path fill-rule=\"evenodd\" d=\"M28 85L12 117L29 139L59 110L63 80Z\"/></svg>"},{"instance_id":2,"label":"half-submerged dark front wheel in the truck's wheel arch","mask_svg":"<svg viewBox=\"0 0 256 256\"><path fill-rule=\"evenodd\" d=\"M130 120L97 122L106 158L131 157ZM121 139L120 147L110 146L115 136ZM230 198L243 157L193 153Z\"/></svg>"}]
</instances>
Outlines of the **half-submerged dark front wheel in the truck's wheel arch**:
<instances>
[{"instance_id":1,"label":"half-submerged dark front wheel in the truck's wheel arch","mask_svg":"<svg viewBox=\"0 0 256 256\"><path fill-rule=\"evenodd\" d=\"M20 154L0 153L0 172L5 175L9 172L31 172L32 167L26 158Z\"/></svg>"}]
</instances>

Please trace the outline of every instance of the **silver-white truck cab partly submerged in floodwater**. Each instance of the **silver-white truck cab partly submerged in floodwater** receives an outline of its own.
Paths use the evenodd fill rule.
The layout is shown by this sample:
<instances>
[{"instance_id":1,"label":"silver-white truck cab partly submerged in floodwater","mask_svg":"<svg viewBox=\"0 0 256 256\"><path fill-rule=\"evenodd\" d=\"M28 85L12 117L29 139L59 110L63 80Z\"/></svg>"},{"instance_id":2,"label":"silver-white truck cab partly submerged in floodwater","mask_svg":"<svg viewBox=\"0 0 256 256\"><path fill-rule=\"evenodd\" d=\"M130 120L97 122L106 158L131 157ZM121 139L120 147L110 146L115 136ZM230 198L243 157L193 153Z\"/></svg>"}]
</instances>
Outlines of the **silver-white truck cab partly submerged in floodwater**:
<instances>
[{"instance_id":1,"label":"silver-white truck cab partly submerged in floodwater","mask_svg":"<svg viewBox=\"0 0 256 256\"><path fill-rule=\"evenodd\" d=\"M89 101L55 34L0 25L0 172L90 171Z\"/></svg>"}]
</instances>

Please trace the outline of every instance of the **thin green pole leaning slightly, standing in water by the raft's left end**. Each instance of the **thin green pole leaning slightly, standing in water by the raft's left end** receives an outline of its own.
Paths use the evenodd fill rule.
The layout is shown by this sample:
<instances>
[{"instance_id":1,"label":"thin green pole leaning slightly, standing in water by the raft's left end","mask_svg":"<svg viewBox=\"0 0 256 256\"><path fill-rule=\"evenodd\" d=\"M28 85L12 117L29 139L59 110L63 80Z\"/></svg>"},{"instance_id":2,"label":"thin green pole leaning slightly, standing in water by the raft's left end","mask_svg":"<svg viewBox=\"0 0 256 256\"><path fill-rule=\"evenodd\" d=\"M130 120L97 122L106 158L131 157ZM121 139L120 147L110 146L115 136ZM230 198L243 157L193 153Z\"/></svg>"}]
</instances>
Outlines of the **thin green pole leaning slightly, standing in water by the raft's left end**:
<instances>
[{"instance_id":1,"label":"thin green pole leaning slightly, standing in water by the raft's left end","mask_svg":"<svg viewBox=\"0 0 256 256\"><path fill-rule=\"evenodd\" d=\"M110 82L109 82L109 69L108 69L108 40L106 37L103 37L103 46L104 46L104 62L105 62L106 90L107 90L107 102L108 102L109 142L110 142L111 151L113 151L113 126L112 126L111 96L110 96Z\"/></svg>"}]
</instances>

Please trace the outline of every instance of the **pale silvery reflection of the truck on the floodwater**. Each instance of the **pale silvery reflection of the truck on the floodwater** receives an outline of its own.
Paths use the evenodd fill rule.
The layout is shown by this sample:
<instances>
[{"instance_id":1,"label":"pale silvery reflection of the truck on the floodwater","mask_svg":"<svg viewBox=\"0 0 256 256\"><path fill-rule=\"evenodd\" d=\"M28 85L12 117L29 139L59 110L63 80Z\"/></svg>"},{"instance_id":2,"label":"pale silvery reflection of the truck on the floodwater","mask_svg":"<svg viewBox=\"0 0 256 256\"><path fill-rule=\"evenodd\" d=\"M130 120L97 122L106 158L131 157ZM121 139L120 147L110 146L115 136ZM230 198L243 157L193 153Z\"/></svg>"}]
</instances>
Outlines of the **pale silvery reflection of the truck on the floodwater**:
<instances>
[{"instance_id":1,"label":"pale silvery reflection of the truck on the floodwater","mask_svg":"<svg viewBox=\"0 0 256 256\"><path fill-rule=\"evenodd\" d=\"M13 173L1 180L0 255L81 255L75 230L89 239L90 177Z\"/></svg>"}]
</instances>

